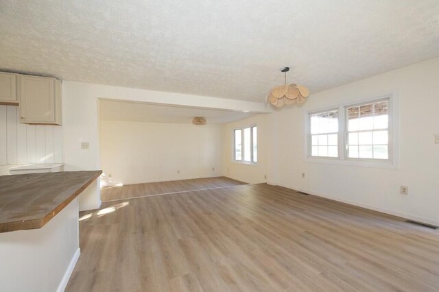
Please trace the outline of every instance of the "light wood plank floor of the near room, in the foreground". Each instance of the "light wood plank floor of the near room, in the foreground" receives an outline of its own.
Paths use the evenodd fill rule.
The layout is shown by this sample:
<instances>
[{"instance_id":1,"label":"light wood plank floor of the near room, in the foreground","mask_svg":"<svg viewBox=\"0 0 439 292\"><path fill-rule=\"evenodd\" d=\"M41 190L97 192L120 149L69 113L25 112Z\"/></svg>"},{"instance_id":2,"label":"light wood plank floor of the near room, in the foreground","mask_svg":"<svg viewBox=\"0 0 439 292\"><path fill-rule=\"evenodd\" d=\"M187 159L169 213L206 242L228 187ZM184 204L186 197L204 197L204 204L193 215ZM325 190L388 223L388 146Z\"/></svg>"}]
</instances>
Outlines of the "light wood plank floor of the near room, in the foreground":
<instances>
[{"instance_id":1,"label":"light wood plank floor of the near room, in the foreground","mask_svg":"<svg viewBox=\"0 0 439 292\"><path fill-rule=\"evenodd\" d=\"M111 212L112 211L112 212ZM66 291L439 291L439 232L248 184L103 204Z\"/></svg>"}]
</instances>

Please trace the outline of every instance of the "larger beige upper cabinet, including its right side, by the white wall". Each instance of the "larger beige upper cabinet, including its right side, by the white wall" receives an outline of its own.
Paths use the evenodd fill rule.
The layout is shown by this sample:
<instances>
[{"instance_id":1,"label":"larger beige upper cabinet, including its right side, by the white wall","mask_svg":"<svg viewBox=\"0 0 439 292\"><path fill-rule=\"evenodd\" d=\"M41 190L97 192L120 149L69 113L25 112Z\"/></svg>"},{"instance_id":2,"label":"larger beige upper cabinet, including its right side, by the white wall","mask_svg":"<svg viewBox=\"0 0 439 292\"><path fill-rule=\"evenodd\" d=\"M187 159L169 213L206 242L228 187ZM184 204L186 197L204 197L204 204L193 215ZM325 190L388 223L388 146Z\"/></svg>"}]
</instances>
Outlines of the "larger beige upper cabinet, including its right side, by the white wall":
<instances>
[{"instance_id":1,"label":"larger beige upper cabinet, including its right side, by the white wall","mask_svg":"<svg viewBox=\"0 0 439 292\"><path fill-rule=\"evenodd\" d=\"M28 75L18 80L21 123L61 125L61 82Z\"/></svg>"}]
</instances>

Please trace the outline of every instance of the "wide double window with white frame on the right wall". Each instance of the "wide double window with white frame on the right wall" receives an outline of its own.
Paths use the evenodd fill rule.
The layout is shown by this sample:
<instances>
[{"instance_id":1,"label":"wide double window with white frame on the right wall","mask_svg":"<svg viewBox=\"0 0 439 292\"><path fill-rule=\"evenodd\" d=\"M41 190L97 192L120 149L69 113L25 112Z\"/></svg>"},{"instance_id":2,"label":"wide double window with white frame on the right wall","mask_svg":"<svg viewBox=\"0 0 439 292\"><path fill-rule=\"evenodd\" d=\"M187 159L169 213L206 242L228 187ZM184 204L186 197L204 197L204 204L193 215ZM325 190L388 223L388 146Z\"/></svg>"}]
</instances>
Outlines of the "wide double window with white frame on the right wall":
<instances>
[{"instance_id":1,"label":"wide double window with white frame on the right wall","mask_svg":"<svg viewBox=\"0 0 439 292\"><path fill-rule=\"evenodd\" d=\"M309 112L307 157L392 162L390 106L386 97Z\"/></svg>"}]
</instances>

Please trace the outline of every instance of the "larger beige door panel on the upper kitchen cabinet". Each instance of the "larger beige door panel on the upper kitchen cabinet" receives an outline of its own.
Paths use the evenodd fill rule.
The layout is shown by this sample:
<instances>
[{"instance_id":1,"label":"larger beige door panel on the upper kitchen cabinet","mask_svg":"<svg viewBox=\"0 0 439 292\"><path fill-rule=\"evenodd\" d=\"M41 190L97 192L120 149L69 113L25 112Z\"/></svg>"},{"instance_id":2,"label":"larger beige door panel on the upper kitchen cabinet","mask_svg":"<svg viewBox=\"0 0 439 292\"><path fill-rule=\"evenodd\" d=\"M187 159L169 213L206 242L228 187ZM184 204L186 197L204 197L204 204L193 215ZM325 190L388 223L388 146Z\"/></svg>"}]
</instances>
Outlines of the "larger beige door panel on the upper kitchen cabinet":
<instances>
[{"instance_id":1,"label":"larger beige door panel on the upper kitchen cabinet","mask_svg":"<svg viewBox=\"0 0 439 292\"><path fill-rule=\"evenodd\" d=\"M27 123L53 123L54 80L52 78L20 76L21 121Z\"/></svg>"}]
</instances>

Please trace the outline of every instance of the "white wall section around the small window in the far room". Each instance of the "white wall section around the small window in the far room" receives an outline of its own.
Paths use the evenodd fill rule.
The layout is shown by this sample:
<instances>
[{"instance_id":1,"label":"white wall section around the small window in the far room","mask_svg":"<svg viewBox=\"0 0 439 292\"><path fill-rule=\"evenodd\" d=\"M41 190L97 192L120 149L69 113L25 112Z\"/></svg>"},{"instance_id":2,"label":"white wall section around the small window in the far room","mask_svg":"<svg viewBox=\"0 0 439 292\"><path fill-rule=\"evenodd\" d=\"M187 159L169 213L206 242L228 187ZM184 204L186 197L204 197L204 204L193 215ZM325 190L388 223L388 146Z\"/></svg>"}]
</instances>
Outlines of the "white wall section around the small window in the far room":
<instances>
[{"instance_id":1,"label":"white wall section around the small window in the far room","mask_svg":"<svg viewBox=\"0 0 439 292\"><path fill-rule=\"evenodd\" d=\"M257 125L258 162L255 165L233 161L233 130L249 125ZM265 175L268 179L269 137L268 114L259 114L256 117L224 125L222 132L223 175L250 184L267 182Z\"/></svg>"}]
</instances>

